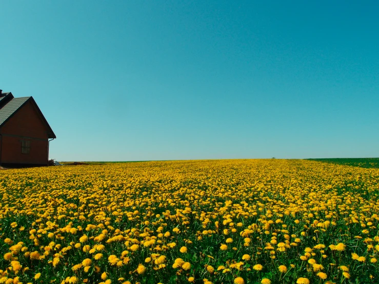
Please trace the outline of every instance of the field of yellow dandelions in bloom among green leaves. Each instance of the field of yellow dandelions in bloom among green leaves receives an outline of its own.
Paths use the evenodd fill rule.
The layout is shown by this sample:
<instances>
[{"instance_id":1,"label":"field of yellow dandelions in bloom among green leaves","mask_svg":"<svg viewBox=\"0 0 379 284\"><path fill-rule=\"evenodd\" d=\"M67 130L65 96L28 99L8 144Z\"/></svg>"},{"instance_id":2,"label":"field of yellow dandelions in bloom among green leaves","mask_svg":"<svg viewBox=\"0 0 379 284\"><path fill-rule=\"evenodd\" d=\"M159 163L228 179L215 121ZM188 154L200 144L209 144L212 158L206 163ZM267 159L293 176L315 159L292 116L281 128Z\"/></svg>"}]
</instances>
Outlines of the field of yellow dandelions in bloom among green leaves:
<instances>
[{"instance_id":1,"label":"field of yellow dandelions in bloom among green leaves","mask_svg":"<svg viewBox=\"0 0 379 284\"><path fill-rule=\"evenodd\" d=\"M0 172L0 196L0 283L379 283L379 169L13 169Z\"/></svg>"}]
</instances>

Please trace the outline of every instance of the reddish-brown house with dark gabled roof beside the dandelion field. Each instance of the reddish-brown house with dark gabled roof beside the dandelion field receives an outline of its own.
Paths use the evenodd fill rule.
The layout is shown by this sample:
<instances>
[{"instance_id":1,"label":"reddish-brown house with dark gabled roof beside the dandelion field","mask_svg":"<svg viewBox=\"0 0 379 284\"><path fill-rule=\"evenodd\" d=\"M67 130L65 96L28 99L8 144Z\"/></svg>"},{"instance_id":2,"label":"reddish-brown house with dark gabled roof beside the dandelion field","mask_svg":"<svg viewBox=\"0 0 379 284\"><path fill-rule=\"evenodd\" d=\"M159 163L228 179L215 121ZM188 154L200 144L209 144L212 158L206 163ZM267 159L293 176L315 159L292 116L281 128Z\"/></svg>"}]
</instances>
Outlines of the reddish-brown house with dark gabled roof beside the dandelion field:
<instances>
[{"instance_id":1,"label":"reddish-brown house with dark gabled roof beside the dandelion field","mask_svg":"<svg viewBox=\"0 0 379 284\"><path fill-rule=\"evenodd\" d=\"M56 138L33 97L0 90L0 165L47 166L49 139Z\"/></svg>"}]
</instances>

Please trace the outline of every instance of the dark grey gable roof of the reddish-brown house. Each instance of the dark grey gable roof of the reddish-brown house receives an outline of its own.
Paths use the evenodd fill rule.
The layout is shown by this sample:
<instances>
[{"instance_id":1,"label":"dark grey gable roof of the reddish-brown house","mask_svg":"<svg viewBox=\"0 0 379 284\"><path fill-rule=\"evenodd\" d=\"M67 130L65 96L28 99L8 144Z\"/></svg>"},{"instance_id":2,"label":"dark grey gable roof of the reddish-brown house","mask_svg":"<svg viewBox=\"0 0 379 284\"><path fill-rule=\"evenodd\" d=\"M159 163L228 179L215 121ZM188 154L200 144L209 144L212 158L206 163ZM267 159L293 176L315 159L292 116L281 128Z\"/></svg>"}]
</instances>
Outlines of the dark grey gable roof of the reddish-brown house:
<instances>
[{"instance_id":1,"label":"dark grey gable roof of the reddish-brown house","mask_svg":"<svg viewBox=\"0 0 379 284\"><path fill-rule=\"evenodd\" d=\"M5 97L0 97L0 127L2 127L6 123L6 121L8 121L8 119L11 118L19 109L21 109L22 106L24 106L27 102L31 101L34 104L34 107L36 108L39 115L41 115L41 118L48 129L48 132L47 132L48 137L56 138L53 130L51 129L50 125L47 123L45 116L42 114L41 110L38 108L33 97L13 97L12 95L12 98L10 98L8 103L2 106L2 103L3 103L2 99Z\"/></svg>"}]
</instances>

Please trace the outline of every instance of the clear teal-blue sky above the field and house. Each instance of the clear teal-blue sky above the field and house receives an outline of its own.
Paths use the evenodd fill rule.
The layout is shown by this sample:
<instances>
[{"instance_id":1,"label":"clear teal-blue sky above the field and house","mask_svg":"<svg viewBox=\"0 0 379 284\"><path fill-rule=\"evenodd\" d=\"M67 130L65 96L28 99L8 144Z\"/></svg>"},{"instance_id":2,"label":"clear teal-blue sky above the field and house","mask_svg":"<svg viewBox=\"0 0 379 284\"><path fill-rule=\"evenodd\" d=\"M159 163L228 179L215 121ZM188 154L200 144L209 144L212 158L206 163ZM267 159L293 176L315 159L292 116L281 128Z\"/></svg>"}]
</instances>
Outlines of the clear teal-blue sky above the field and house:
<instances>
[{"instance_id":1,"label":"clear teal-blue sky above the field and house","mask_svg":"<svg viewBox=\"0 0 379 284\"><path fill-rule=\"evenodd\" d=\"M378 1L1 1L57 160L379 156Z\"/></svg>"}]
</instances>

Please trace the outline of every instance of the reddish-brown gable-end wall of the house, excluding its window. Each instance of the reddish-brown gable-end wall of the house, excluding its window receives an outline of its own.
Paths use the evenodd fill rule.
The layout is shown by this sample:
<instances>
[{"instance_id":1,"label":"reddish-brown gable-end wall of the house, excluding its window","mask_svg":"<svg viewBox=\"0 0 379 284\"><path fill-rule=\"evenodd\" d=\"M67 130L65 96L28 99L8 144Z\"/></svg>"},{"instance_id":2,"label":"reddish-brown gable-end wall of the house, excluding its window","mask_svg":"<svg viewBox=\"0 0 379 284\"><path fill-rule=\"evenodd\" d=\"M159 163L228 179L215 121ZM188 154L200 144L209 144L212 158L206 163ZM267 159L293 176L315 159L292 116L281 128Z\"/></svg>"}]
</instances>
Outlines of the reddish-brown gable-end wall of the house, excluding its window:
<instances>
[{"instance_id":1,"label":"reddish-brown gable-end wall of the house, excluding its window","mask_svg":"<svg viewBox=\"0 0 379 284\"><path fill-rule=\"evenodd\" d=\"M47 165L48 135L32 102L26 103L0 128L1 163ZM22 140L30 141L30 153L22 153Z\"/></svg>"}]
</instances>

